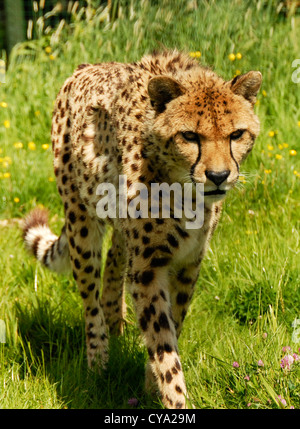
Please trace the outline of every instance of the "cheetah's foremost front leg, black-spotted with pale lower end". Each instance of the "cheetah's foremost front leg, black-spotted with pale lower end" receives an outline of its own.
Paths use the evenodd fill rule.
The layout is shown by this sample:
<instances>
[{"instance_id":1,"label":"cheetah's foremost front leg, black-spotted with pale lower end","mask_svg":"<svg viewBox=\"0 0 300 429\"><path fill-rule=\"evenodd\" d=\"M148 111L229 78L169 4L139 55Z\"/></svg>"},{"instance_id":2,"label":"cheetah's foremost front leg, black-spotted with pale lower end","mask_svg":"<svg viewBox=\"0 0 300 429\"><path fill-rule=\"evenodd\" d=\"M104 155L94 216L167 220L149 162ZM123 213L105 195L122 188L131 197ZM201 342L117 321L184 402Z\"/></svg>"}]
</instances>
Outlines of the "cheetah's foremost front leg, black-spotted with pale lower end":
<instances>
[{"instance_id":1,"label":"cheetah's foremost front leg, black-spotted with pale lower end","mask_svg":"<svg viewBox=\"0 0 300 429\"><path fill-rule=\"evenodd\" d=\"M166 267L154 270L143 265L138 259L133 264L131 291L149 365L163 404L167 408L185 408L186 386L171 312L168 271Z\"/></svg>"}]
</instances>

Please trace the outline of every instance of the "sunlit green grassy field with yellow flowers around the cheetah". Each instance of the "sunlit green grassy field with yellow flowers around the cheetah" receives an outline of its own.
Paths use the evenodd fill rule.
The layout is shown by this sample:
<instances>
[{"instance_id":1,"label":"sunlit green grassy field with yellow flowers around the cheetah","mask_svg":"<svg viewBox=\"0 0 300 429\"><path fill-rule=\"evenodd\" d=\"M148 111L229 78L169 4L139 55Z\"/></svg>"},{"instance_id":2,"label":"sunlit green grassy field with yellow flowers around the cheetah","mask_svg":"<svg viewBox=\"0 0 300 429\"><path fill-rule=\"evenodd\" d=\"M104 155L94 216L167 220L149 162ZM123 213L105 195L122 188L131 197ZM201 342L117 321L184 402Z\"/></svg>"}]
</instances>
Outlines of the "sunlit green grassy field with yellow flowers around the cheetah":
<instances>
[{"instance_id":1,"label":"sunlit green grassy field with yellow flowers around the cheetah","mask_svg":"<svg viewBox=\"0 0 300 429\"><path fill-rule=\"evenodd\" d=\"M40 20L38 39L14 49L0 85L0 408L121 409L130 398L161 407L143 390L147 356L129 298L132 323L111 339L106 373L91 374L76 284L25 252L18 225L37 205L50 209L54 231L63 224L50 128L64 80L80 63L136 61L160 47L201 52L199 61L226 79L263 74L261 134L226 200L179 341L191 400L196 408L300 408L300 361L282 361L300 355L300 84L291 79L300 15L279 1L126 3L110 15L74 11L71 25L49 34Z\"/></svg>"}]
</instances>

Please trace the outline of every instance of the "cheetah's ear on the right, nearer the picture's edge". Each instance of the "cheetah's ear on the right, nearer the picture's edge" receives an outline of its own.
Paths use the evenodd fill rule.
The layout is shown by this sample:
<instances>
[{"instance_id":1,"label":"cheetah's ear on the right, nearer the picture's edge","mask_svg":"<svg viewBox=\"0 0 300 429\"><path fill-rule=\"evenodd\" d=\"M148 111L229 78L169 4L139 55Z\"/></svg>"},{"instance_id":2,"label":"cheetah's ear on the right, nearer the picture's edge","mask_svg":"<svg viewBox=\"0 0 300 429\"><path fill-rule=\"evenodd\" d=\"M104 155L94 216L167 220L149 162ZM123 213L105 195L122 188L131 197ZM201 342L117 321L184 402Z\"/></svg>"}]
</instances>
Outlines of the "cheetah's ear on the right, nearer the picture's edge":
<instances>
[{"instance_id":1,"label":"cheetah's ear on the right, nearer the picture's edge","mask_svg":"<svg viewBox=\"0 0 300 429\"><path fill-rule=\"evenodd\" d=\"M229 83L230 89L237 95L242 95L250 101L252 106L256 102L256 95L262 82L262 75L259 71L250 71L233 78Z\"/></svg>"}]
</instances>

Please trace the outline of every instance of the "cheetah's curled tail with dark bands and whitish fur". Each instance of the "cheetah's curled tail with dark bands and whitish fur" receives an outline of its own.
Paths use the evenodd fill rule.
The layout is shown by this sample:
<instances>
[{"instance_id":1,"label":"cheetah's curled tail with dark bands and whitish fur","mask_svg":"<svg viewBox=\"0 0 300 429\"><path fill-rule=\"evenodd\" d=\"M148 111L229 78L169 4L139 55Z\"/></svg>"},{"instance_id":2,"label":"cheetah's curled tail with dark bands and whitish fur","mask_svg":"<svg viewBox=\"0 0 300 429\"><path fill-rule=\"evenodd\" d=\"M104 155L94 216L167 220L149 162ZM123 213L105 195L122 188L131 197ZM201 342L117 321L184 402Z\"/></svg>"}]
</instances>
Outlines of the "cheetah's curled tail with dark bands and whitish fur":
<instances>
[{"instance_id":1,"label":"cheetah's curled tail with dark bands and whitish fur","mask_svg":"<svg viewBox=\"0 0 300 429\"><path fill-rule=\"evenodd\" d=\"M65 227L60 237L48 226L48 211L36 208L24 219L23 238L27 249L46 267L58 273L70 270Z\"/></svg>"}]
</instances>

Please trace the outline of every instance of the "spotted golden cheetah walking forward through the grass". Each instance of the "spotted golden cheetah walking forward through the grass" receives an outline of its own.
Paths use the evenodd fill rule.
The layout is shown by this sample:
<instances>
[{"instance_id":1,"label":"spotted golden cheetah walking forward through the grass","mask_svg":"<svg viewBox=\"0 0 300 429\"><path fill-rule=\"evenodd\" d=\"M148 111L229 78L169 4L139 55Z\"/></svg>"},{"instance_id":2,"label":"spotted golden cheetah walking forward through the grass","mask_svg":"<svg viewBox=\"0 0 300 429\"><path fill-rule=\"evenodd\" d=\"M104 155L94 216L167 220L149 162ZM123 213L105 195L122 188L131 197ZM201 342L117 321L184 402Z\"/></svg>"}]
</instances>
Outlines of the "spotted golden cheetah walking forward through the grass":
<instances>
[{"instance_id":1,"label":"spotted golden cheetah walking forward through the grass","mask_svg":"<svg viewBox=\"0 0 300 429\"><path fill-rule=\"evenodd\" d=\"M54 235L45 210L34 209L24 221L26 246L46 267L72 271L90 368L106 367L109 335L123 332L126 283L149 355L145 386L166 408L188 406L178 338L223 201L259 134L261 81L259 71L225 81L186 53L163 51L135 63L82 64L56 99L51 136L65 225ZM120 175L127 187L149 190L203 184L202 227L187 229L173 209L169 218L100 218L97 186L117 189Z\"/></svg>"}]
</instances>

